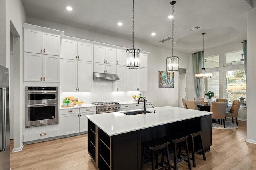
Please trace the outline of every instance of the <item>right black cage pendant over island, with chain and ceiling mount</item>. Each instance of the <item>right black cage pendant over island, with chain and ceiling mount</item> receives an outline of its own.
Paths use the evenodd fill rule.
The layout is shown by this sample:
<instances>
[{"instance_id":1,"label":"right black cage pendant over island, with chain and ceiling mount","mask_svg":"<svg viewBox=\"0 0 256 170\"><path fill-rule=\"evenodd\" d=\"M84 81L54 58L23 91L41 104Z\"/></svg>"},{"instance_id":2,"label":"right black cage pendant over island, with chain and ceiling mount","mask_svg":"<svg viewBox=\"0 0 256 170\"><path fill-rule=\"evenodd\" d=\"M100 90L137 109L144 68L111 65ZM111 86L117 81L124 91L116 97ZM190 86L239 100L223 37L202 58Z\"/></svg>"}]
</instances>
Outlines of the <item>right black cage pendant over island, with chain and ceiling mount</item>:
<instances>
[{"instance_id":1,"label":"right black cage pendant over island, with chain and ceiling mount","mask_svg":"<svg viewBox=\"0 0 256 170\"><path fill-rule=\"evenodd\" d=\"M171 2L171 5L172 5L172 16L174 16L174 4L176 3L176 1L172 1ZM167 72L178 72L179 71L179 61L180 61L180 58L178 56L174 56L173 55L173 29L174 29L174 17L172 18L172 56L170 57L167 57L166 59L166 71Z\"/></svg>"}]
</instances>

